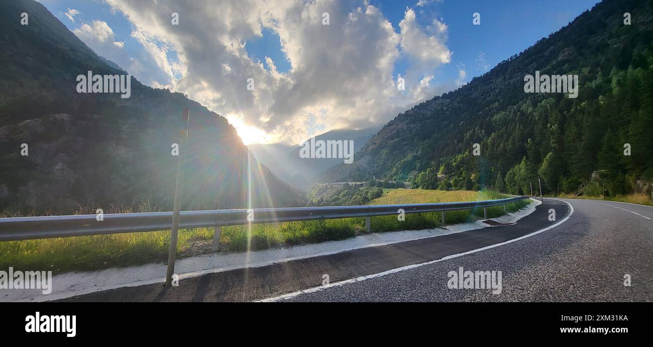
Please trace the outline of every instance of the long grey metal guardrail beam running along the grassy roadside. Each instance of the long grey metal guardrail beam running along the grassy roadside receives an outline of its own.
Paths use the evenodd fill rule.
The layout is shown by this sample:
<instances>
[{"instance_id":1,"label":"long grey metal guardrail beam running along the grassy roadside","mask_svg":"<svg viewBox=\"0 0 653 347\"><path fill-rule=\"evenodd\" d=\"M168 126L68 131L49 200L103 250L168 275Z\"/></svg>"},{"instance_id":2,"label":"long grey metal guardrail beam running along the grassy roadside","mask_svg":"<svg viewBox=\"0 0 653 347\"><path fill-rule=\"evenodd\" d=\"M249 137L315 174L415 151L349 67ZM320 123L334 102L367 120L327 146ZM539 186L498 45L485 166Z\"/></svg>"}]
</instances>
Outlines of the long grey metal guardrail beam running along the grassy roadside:
<instances>
[{"instance_id":1,"label":"long grey metal guardrail beam running along the grassy roadside","mask_svg":"<svg viewBox=\"0 0 653 347\"><path fill-rule=\"evenodd\" d=\"M506 205L523 199L528 199L528 197L458 203L183 211L180 213L179 227L180 229L192 229L249 223L389 216L398 214L400 208L406 214L470 210ZM252 219L251 221L248 220L248 216ZM172 224L172 212L104 214L101 221L96 218L95 214L0 218L0 241L161 231L170 230Z\"/></svg>"}]
</instances>

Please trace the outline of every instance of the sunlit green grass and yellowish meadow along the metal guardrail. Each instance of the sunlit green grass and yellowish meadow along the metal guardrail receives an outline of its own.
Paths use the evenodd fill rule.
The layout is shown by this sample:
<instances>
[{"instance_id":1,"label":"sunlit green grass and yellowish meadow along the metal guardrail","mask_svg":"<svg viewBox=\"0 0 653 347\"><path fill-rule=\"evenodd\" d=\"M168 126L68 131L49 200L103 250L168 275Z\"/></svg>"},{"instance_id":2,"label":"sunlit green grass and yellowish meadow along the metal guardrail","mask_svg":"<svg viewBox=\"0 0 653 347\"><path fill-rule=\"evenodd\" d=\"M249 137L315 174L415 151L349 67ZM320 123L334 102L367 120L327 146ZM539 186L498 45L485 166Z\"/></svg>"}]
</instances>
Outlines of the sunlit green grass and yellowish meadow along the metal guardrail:
<instances>
[{"instance_id":1,"label":"sunlit green grass and yellowish meadow along the metal guardrail","mask_svg":"<svg viewBox=\"0 0 653 347\"><path fill-rule=\"evenodd\" d=\"M384 195L372 201L370 205L474 201L501 197L503 196L499 193L490 191L399 188L384 190ZM509 204L507 211L514 212L527 204L528 201ZM502 214L502 207L488 208L488 218ZM447 212L446 222L447 224L463 223L476 218L483 218L483 208ZM372 232L419 230L439 226L441 226L440 212L406 214L406 220L403 222L400 222L396 216L379 216L371 219ZM223 252L245 252L349 239L366 233L364 218L253 224L251 229L247 225L234 225L223 227L220 243ZM208 252L213 235L212 227L180 230L178 256L189 254L198 248L198 244L203 248L199 253ZM63 273L140 265L166 261L169 244L169 231L0 242L0 269L14 267L16 270L52 270L54 273Z\"/></svg>"}]
</instances>

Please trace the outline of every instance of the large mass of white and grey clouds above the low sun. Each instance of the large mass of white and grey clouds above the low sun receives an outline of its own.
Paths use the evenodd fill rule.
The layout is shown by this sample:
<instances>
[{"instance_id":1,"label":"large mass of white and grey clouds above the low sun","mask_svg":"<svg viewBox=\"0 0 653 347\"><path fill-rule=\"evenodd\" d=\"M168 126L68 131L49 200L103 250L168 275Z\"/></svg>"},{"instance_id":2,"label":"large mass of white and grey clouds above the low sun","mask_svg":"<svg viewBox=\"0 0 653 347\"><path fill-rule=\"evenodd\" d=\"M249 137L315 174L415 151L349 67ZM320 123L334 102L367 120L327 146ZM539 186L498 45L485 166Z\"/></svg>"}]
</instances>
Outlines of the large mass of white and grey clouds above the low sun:
<instances>
[{"instance_id":1,"label":"large mass of white and grey clouds above the low sun","mask_svg":"<svg viewBox=\"0 0 653 347\"><path fill-rule=\"evenodd\" d=\"M397 33L366 2L360 7L335 0L106 2L133 24L132 37L159 72L158 78L148 75L157 86L186 93L259 139L298 143L318 131L383 124L453 88L453 82L432 83L434 69L451 61L447 26L436 21L427 34L413 10ZM171 12L179 13L180 25L170 25ZM330 25L322 24L324 12ZM247 56L246 42L261 37L264 28L279 35L291 63L286 73L268 57L265 69ZM178 63L170 63L173 51ZM402 74L406 93L393 80L394 62L402 54L414 61ZM247 78L254 80L253 91L246 88Z\"/></svg>"}]
</instances>

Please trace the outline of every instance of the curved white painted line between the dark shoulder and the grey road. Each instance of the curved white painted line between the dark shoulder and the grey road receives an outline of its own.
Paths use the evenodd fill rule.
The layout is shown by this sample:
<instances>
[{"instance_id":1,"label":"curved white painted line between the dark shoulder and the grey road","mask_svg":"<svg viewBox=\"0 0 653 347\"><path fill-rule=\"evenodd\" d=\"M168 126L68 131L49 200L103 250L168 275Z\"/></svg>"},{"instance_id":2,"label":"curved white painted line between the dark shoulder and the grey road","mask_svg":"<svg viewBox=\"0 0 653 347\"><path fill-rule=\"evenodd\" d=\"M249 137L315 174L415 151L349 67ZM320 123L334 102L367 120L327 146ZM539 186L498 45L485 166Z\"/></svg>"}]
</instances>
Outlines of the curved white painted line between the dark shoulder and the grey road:
<instances>
[{"instance_id":1,"label":"curved white painted line between the dark shoulder and the grey road","mask_svg":"<svg viewBox=\"0 0 653 347\"><path fill-rule=\"evenodd\" d=\"M357 278L351 278L351 279L349 279L349 280L343 280L343 281L340 281L340 282L330 283L330 284L327 284L327 285L325 285L325 286L319 286L319 287L313 287L313 288L304 289L304 290L300 290L300 291L295 291L295 292L293 292L293 293L288 293L288 294L284 294L284 295L279 295L278 297L270 297L270 298L268 298L268 299L263 299L263 300L260 300L260 301L257 301L257 302L261 302L261 303L270 303L270 302L279 301L279 300L291 299L291 298L293 298L293 297L296 297L297 295L301 295L301 294L305 294L305 293L315 293L316 291L323 291L323 290L328 289L328 288L345 286L345 285L347 285L347 284L352 284L352 283L356 283L356 282L362 282L362 281L364 281L364 280L369 280L370 278L377 278L377 277L385 276L385 275L387 275L387 274L393 274L393 273L398 273L398 272L400 272L400 271L406 271L406 270L409 270L409 269L415 269L416 267L422 267L422 266L424 266L424 265L430 265L430 264L433 264L433 263L439 263L440 261L445 261L445 260L453 259L453 258L456 258L456 257L466 256L466 255L468 255L468 254L472 254L472 253L476 253L476 252L481 252L481 251L483 251L483 250L489 250L490 248L495 248L495 247L498 247L498 246L503 246L504 244L509 244L509 243L512 243L512 242L515 242L515 241L518 241L518 240L523 240L523 239L526 239L526 238L528 238L528 237L532 237L532 236L534 236L534 235L537 235L537 234L539 234L539 233L543 233L543 232L545 232L545 231L547 231L547 230L549 230L549 229L552 229L552 228L554 228L554 227L557 227L558 225L560 225L560 224L562 224L562 223L564 223L564 222L567 222L567 220L569 219L569 217L571 217L571 215L573 214L573 211L574 211L574 210L573 210L573 206L571 206L570 203L567 203L567 201L558 200L558 199L550 199L550 200L562 201L563 203L569 205L569 208L570 208L570 210L569 210L569 214L568 214L565 218L563 218L562 220L560 220L560 222L557 222L557 223L555 223L555 224L553 224L553 225L549 225L548 227L545 227L544 229L540 229L540 230L538 230L538 231L535 231L535 233L530 233L530 234L528 234L528 235L524 235L524 236L518 237L517 239L507 240L507 241L505 241L505 242L500 242L500 243L498 243L498 244L492 244L492 245L490 245L490 246L485 246L485 247L483 247L483 248L477 248L477 249L475 249L475 250L471 250L471 251L468 251L468 252L463 252L463 253L458 253L458 254L452 254L451 256L442 257L441 259L432 260L432 261L426 261L426 263L419 263L419 264L413 264L413 265L406 265L406 266L398 267L398 268L396 268L396 269L390 269L390 270L388 270L388 271L383 271L382 273L376 273L376 274L370 274L370 275L367 275L367 276L360 276L360 277L357 277Z\"/></svg>"}]
</instances>

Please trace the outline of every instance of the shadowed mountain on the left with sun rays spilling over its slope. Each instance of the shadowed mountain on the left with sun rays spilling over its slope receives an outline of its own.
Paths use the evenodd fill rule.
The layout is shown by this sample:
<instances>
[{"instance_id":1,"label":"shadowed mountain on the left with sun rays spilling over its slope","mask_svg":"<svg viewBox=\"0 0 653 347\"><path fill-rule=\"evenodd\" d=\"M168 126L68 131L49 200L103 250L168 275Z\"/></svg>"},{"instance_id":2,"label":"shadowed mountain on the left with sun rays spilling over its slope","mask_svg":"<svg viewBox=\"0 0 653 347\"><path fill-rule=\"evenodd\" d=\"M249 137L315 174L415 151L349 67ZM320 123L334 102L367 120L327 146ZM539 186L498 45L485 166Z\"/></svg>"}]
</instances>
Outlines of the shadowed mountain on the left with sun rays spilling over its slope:
<instances>
[{"instance_id":1,"label":"shadowed mountain on the left with sun rays spilling over its slope","mask_svg":"<svg viewBox=\"0 0 653 347\"><path fill-rule=\"evenodd\" d=\"M22 25L21 14L29 15ZM303 206L234 128L180 93L131 78L131 97L78 93L78 75L124 74L33 0L0 2L0 210L78 204L170 210L182 110L190 108L182 208ZM27 152L22 153L23 144ZM24 156L23 154L27 154ZM248 161L249 158L249 161Z\"/></svg>"}]
</instances>

